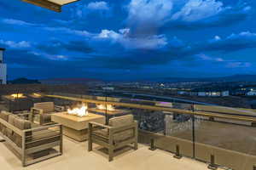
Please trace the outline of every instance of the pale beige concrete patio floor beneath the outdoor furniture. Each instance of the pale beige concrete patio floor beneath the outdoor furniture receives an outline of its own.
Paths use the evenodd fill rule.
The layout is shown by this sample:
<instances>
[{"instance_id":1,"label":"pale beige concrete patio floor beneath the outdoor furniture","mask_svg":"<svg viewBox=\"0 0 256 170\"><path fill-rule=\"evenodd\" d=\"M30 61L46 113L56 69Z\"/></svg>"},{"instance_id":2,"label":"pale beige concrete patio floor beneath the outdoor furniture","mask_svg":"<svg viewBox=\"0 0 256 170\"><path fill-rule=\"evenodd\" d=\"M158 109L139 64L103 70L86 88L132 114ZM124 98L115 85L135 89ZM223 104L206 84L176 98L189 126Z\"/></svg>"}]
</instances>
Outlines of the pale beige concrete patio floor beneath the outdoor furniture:
<instances>
[{"instance_id":1,"label":"pale beige concrete patio floor beneath the outdoor furniture","mask_svg":"<svg viewBox=\"0 0 256 170\"><path fill-rule=\"evenodd\" d=\"M139 144L138 150L119 153L108 162L108 155L102 148L93 145L94 150L87 151L87 142L77 143L64 138L64 154L29 167L21 167L15 154L0 143L1 170L207 170L207 164L186 157L181 160L173 158L164 150L148 150L147 145Z\"/></svg>"}]
</instances>

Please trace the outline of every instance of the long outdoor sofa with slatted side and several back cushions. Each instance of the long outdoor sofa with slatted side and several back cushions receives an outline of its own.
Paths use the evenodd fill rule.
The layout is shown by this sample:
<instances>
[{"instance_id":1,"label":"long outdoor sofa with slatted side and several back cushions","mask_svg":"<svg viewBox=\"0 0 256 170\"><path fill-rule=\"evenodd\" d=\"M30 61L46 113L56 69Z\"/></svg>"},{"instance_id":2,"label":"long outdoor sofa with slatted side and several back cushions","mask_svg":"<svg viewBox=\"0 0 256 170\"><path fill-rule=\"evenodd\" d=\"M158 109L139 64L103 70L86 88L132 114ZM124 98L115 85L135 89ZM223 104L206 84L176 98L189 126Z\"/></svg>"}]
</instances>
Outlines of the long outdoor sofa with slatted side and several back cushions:
<instances>
[{"instance_id":1,"label":"long outdoor sofa with slatted side and several back cushions","mask_svg":"<svg viewBox=\"0 0 256 170\"><path fill-rule=\"evenodd\" d=\"M60 124L39 126L10 112L1 111L0 135L19 156L23 167L62 155Z\"/></svg>"}]
</instances>

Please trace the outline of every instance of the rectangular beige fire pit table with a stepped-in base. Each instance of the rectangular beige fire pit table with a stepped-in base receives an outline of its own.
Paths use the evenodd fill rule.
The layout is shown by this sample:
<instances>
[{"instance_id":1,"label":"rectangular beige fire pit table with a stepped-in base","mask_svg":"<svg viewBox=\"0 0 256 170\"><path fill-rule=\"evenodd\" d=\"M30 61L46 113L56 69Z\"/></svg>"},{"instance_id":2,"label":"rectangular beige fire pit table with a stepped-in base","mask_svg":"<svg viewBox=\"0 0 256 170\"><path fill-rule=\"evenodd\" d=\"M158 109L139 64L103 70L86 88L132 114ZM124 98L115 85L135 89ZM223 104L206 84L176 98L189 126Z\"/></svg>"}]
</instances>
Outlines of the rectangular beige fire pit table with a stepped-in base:
<instances>
[{"instance_id":1,"label":"rectangular beige fire pit table with a stepped-in base","mask_svg":"<svg viewBox=\"0 0 256 170\"><path fill-rule=\"evenodd\" d=\"M55 113L51 116L53 122L60 123L63 134L69 138L82 142L88 138L88 122L105 123L105 116L89 113L89 116L73 116L67 112Z\"/></svg>"}]
</instances>

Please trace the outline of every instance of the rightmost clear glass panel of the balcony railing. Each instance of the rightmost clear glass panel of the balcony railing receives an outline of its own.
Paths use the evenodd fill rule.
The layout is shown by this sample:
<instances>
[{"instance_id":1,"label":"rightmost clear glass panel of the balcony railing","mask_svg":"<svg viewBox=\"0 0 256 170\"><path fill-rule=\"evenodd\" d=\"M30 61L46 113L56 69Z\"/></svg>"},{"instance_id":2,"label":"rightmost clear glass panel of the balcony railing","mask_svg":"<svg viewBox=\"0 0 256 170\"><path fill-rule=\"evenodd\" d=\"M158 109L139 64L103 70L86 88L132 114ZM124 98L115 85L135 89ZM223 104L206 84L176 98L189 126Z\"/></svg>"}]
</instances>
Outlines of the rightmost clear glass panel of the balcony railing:
<instances>
[{"instance_id":1,"label":"rightmost clear glass panel of the balcony railing","mask_svg":"<svg viewBox=\"0 0 256 170\"><path fill-rule=\"evenodd\" d=\"M195 116L195 158L232 169L253 169L256 127L251 122ZM249 166L250 168L247 168Z\"/></svg>"}]
</instances>

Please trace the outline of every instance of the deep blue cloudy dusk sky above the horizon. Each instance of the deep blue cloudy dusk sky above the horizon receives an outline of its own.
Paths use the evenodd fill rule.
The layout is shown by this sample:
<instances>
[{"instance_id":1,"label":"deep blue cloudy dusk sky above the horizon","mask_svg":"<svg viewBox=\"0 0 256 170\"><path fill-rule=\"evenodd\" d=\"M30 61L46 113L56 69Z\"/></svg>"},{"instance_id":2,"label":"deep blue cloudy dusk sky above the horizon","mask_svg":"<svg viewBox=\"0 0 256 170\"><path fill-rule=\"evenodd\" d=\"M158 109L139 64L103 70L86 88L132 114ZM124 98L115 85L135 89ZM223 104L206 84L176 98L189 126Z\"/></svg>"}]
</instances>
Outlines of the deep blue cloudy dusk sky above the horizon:
<instances>
[{"instance_id":1,"label":"deep blue cloudy dusk sky above the horizon","mask_svg":"<svg viewBox=\"0 0 256 170\"><path fill-rule=\"evenodd\" d=\"M255 0L0 1L9 79L256 74Z\"/></svg>"}]
</instances>

